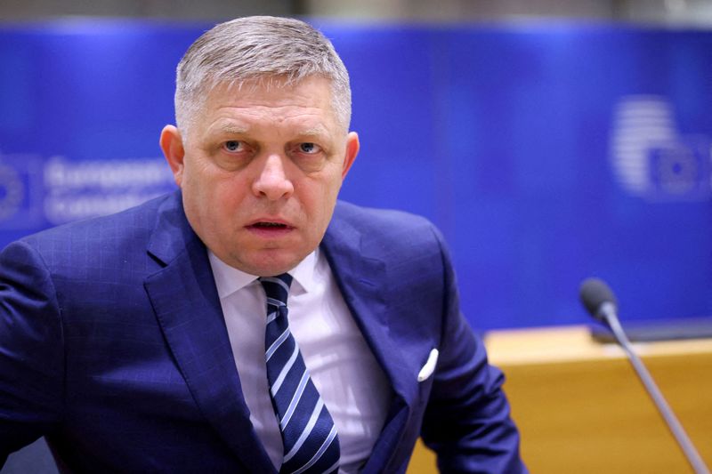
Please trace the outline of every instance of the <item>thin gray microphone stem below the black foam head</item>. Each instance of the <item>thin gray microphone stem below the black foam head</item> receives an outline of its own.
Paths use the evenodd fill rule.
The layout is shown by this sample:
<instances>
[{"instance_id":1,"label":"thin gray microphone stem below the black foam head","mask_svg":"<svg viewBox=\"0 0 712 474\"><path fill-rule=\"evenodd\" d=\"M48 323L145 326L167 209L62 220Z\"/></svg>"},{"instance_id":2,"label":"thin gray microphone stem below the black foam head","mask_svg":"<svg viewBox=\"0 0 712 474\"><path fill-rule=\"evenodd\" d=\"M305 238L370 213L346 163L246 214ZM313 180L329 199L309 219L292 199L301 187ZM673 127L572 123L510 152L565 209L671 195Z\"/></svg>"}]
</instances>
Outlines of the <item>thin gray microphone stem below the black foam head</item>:
<instances>
[{"instance_id":1,"label":"thin gray microphone stem below the black foam head","mask_svg":"<svg viewBox=\"0 0 712 474\"><path fill-rule=\"evenodd\" d=\"M695 449L690 438L688 438L687 433L683 429L683 425L677 421L677 417L667 405L667 401L662 396L658 385L652 380L651 374L648 369L643 365L643 361L635 354L633 346L630 341L628 341L626 332L623 331L623 327L620 325L618 317L616 316L615 305L611 302L604 302L599 310L599 315L603 317L606 323L611 327L611 331L616 336L619 341L621 348L627 353L628 360L638 374L641 382L648 390L648 394L651 396L652 401L655 402L655 406L658 407L659 413L667 422L667 427L672 431L673 436L677 441L677 444L682 448L687 461L690 462L692 470L695 474L709 474L709 470L702 461L700 454Z\"/></svg>"}]
</instances>

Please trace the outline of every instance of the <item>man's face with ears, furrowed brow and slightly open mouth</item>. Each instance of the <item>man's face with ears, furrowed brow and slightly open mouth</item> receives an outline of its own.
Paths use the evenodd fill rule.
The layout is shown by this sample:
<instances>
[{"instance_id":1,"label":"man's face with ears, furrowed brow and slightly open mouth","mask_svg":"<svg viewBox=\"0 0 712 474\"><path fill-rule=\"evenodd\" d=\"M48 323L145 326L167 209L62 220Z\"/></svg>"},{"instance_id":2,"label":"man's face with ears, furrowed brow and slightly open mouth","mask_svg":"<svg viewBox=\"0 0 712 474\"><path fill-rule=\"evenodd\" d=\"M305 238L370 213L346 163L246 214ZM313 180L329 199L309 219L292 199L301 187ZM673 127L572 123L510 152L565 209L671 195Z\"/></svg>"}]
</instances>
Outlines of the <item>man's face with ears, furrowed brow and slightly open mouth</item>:
<instances>
[{"instance_id":1,"label":"man's face with ears, furrowed brow and slightly open mouth","mask_svg":"<svg viewBox=\"0 0 712 474\"><path fill-rule=\"evenodd\" d=\"M190 226L222 261L257 276L293 269L320 244L359 150L318 76L218 87L189 136L168 125L160 143Z\"/></svg>"}]
</instances>

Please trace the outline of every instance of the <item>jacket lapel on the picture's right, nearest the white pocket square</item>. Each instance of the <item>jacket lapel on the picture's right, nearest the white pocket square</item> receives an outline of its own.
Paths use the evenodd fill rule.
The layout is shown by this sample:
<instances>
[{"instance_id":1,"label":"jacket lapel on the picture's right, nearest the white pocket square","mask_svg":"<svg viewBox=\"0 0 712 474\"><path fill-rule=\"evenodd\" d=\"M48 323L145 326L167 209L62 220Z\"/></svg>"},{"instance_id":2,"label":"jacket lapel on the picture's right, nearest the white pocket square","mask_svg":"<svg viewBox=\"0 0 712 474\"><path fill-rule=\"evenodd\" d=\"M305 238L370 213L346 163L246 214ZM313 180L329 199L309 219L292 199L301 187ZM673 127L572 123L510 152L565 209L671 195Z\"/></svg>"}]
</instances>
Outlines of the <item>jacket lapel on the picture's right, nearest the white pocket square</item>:
<instances>
[{"instance_id":1,"label":"jacket lapel on the picture's right, nearest the white pocket square","mask_svg":"<svg viewBox=\"0 0 712 474\"><path fill-rule=\"evenodd\" d=\"M409 418L410 406L417 397L417 382L409 380L412 370L398 349L397 336L390 332L388 325L390 309L386 290L392 291L393 285L389 284L385 262L376 252L369 252L360 232L339 221L336 214L321 246L344 301L394 392L384 429L363 469L363 472L380 471L395 453Z\"/></svg>"}]
</instances>

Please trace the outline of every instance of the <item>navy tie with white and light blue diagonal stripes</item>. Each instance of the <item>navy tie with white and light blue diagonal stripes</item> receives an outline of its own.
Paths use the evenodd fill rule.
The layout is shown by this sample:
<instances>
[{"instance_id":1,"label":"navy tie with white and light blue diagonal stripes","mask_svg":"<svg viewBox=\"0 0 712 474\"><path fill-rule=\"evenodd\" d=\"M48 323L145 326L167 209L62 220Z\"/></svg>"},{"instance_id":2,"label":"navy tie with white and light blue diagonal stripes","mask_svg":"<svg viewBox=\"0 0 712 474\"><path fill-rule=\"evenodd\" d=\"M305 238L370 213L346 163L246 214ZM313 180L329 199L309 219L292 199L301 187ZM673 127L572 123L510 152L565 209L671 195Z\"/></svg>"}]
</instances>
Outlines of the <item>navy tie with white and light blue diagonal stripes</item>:
<instances>
[{"instance_id":1,"label":"navy tie with white and light blue diagonal stripes","mask_svg":"<svg viewBox=\"0 0 712 474\"><path fill-rule=\"evenodd\" d=\"M287 294L292 277L261 277L267 295L264 338L267 380L284 442L280 473L335 472L339 467L336 426L314 387L287 321Z\"/></svg>"}]
</instances>

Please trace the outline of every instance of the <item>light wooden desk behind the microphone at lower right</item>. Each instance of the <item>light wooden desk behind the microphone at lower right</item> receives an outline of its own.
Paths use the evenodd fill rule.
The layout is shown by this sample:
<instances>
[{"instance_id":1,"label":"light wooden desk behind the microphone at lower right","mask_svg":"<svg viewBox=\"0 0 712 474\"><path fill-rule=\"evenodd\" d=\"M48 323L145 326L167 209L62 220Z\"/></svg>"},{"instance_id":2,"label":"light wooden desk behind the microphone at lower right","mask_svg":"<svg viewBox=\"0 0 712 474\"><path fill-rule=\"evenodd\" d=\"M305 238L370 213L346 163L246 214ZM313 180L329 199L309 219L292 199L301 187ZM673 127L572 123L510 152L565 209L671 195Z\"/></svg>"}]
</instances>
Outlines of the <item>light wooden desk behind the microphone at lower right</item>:
<instances>
[{"instance_id":1,"label":"light wooden desk behind the microphone at lower right","mask_svg":"<svg viewBox=\"0 0 712 474\"><path fill-rule=\"evenodd\" d=\"M532 473L692 472L618 346L592 341L583 326L493 332L485 342L506 374ZM635 348L712 467L712 341ZM418 446L409 474L433 466Z\"/></svg>"}]
</instances>

